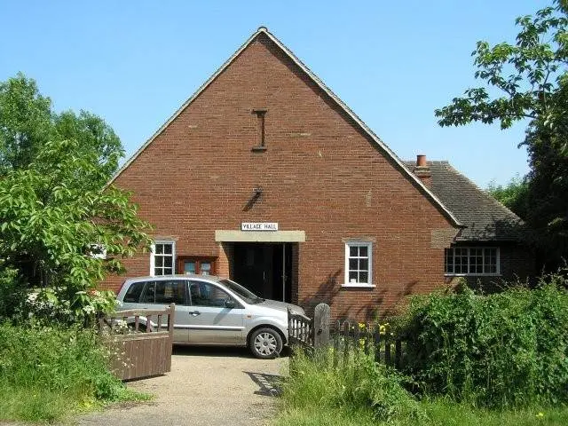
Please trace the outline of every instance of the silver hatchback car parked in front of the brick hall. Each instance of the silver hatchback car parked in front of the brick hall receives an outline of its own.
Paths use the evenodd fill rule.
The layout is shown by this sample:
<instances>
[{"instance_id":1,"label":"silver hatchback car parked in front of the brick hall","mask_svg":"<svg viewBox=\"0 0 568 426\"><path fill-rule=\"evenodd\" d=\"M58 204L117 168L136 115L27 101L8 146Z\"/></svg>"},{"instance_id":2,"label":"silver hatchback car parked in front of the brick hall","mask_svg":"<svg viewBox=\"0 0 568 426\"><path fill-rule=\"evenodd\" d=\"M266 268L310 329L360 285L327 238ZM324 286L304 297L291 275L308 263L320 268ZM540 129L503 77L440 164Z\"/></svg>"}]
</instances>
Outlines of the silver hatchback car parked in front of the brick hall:
<instances>
[{"instance_id":1,"label":"silver hatchback car parked in front of the brick hall","mask_svg":"<svg viewBox=\"0 0 568 426\"><path fill-rule=\"evenodd\" d=\"M174 343L248 346L257 358L278 356L288 339L288 309L294 304L258 297L232 280L203 275L164 275L124 281L121 310L176 304ZM146 326L145 319L140 323Z\"/></svg>"}]
</instances>

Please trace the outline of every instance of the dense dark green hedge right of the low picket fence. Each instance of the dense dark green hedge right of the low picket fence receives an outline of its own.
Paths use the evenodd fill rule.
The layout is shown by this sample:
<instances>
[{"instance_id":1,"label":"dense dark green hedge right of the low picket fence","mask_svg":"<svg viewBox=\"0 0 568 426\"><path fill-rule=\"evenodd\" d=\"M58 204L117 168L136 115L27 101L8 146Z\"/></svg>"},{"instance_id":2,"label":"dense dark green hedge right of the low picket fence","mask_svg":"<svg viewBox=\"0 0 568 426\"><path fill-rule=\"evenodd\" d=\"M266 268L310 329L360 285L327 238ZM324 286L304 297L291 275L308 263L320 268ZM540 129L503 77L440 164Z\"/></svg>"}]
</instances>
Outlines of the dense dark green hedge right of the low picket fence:
<instances>
[{"instance_id":1,"label":"dense dark green hedge right of the low picket fence","mask_svg":"<svg viewBox=\"0 0 568 426\"><path fill-rule=\"evenodd\" d=\"M568 293L560 275L535 289L416 296L400 326L406 373L433 395L482 406L568 402Z\"/></svg>"}]
</instances>

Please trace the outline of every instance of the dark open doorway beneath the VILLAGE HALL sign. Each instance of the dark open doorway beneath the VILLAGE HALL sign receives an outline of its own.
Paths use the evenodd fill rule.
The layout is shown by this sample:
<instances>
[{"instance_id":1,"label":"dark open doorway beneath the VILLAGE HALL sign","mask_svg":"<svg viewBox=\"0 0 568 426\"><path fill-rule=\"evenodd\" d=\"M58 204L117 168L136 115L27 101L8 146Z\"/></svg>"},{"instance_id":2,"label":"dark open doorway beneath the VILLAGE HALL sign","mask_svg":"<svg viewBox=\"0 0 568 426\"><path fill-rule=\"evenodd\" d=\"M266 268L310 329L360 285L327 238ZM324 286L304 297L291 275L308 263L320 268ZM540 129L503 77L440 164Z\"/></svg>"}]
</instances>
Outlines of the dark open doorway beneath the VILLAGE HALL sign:
<instances>
[{"instance_id":1,"label":"dark open doorway beneath the VILLAGE HALL sign","mask_svg":"<svg viewBox=\"0 0 568 426\"><path fill-rule=\"evenodd\" d=\"M235 242L233 277L265 299L292 300L292 243Z\"/></svg>"}]
</instances>

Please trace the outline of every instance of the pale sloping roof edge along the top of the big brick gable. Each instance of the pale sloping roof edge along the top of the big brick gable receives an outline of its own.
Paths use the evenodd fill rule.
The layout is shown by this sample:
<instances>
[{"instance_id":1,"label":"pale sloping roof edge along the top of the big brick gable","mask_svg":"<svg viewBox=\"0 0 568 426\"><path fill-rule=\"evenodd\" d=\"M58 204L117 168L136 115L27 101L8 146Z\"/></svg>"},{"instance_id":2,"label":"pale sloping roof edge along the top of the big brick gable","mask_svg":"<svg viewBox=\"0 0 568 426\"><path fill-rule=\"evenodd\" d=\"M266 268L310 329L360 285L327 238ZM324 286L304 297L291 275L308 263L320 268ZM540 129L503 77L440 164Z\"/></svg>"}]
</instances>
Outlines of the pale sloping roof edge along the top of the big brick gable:
<instances>
[{"instance_id":1,"label":"pale sloping roof edge along the top of the big brick gable","mask_svg":"<svg viewBox=\"0 0 568 426\"><path fill-rule=\"evenodd\" d=\"M184 111L187 106L191 105L193 100L196 99L201 94L202 91L205 91L205 89L207 89L209 84L213 83L215 81L215 79L217 78L217 76L220 75L221 73L223 73L223 71L225 71L225 69L227 67L229 67L229 65L231 65L233 60L236 59L241 54L241 52L244 51L250 43L253 43L256 40L256 37L258 37L260 35L267 36L273 43L275 43L280 48L280 50L283 51L288 56L289 59L291 59L298 67L300 67L300 69L302 71L304 71L304 73L306 75L308 75L310 77L312 82L316 83L319 86L319 88L327 94L327 96L329 96L331 99L333 99L335 101L335 103L343 109L345 114L350 116L351 119L354 122L356 122L359 125L359 127L367 134L367 136L369 138L371 138L375 142L375 144L377 146L379 146L385 154L387 154L388 157L390 157L390 160L392 160L393 162L395 162L398 165L398 167L402 171L403 175L405 175L409 180L413 181L415 185L418 185L421 188L422 192L426 195L426 197L429 198L430 201L438 209L440 209L440 211L444 214L444 216L446 216L446 218L448 218L450 220L452 225L454 225L456 227L462 226L461 222L458 220L457 217L454 216L452 211L450 209L446 208L444 203L442 201L440 201L438 199L438 197L434 193L432 193L426 185L424 185L422 183L422 180L420 178L416 177L411 170L408 170L405 162L401 161L398 158L398 156L390 150L390 147L387 146L386 144L384 144L383 141L381 140L381 138L379 138L377 135L375 135L375 132L373 130L369 129L367 127L367 124L365 124L365 122L363 122L357 114L355 114L355 113L353 113L353 111L351 111L351 108L349 106L345 105L343 103L343 101L341 99L339 99L333 91L331 91L321 80L319 80L319 77L317 75L312 73L312 70L310 70L310 68L306 67L300 59L296 58L296 55L292 51L290 51L288 49L288 47L286 47L283 43L281 43L278 38L273 36L268 31L268 29L265 28L265 27L258 28L252 36L248 37L248 40L245 43L243 43L241 45L241 47L237 51L235 51L233 53L233 55L229 59L227 59L225 61L225 63L221 67L219 67L213 75L211 75L209 77L209 80L207 80L205 83L203 83L201 85L201 87L193 93L191 98L187 99L184 102L184 104L182 106L180 106L177 109L177 111L168 119L168 121L164 122L162 124L162 127L160 127L160 129L158 129L154 133L154 135L152 135L152 137L150 137L148 140L146 140L146 143L143 146L140 146L138 151L136 153L134 153L130 157L130 159L128 159L126 162L124 162L122 167L116 172L114 177L112 177L106 185L111 185L114 182L114 180L116 179L116 177L119 177L120 174L122 173L122 171L126 170L130 166L130 163L133 162L134 160L136 160L138 155L141 154L146 149L146 146L150 145L154 141L154 139L158 135L160 135L162 133L162 131L165 130L170 125L170 122L173 122L176 119L177 115L181 114L182 111Z\"/></svg>"}]
</instances>

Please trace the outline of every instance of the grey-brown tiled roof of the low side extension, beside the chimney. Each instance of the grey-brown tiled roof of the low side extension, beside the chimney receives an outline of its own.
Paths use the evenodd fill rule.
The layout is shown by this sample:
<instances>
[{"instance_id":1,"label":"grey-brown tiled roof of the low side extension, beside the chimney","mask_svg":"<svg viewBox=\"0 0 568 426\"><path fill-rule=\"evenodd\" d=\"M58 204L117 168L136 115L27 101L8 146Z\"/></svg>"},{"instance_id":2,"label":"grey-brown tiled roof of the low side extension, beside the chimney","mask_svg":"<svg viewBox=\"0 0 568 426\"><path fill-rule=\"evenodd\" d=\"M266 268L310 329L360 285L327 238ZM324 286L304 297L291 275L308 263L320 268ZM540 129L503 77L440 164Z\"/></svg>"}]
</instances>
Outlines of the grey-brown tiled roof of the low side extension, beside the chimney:
<instances>
[{"instance_id":1,"label":"grey-brown tiled roof of the low side extension, beside the chimney","mask_svg":"<svg viewBox=\"0 0 568 426\"><path fill-rule=\"evenodd\" d=\"M414 162L406 162L413 169ZM431 191L467 227L455 241L523 241L525 223L501 202L486 193L449 162L428 162Z\"/></svg>"}]
</instances>

